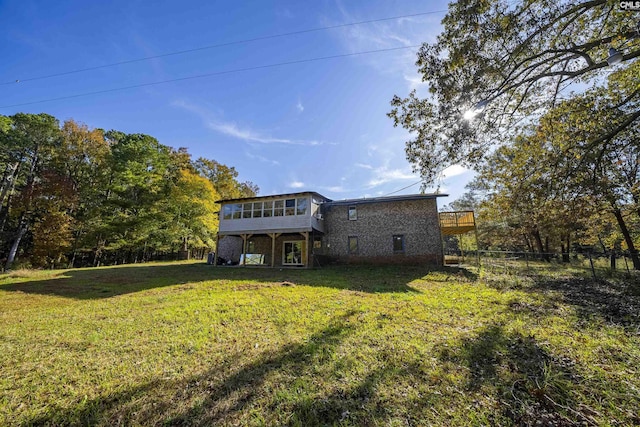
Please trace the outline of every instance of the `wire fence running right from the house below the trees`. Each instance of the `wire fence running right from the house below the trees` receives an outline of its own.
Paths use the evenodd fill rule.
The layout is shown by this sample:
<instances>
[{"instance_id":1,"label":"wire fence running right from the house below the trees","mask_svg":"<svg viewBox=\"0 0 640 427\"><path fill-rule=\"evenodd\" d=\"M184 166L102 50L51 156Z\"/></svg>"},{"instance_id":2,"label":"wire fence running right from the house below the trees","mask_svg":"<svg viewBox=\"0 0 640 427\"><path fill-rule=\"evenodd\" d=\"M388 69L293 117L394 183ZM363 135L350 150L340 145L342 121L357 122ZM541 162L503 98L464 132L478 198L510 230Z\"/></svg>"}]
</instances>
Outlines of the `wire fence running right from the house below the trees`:
<instances>
[{"instance_id":1,"label":"wire fence running right from the house below the trees","mask_svg":"<svg viewBox=\"0 0 640 427\"><path fill-rule=\"evenodd\" d=\"M445 254L445 265L472 265L502 274L537 274L549 270L581 271L594 279L637 274L624 252L532 253L517 251L467 251Z\"/></svg>"}]
</instances>

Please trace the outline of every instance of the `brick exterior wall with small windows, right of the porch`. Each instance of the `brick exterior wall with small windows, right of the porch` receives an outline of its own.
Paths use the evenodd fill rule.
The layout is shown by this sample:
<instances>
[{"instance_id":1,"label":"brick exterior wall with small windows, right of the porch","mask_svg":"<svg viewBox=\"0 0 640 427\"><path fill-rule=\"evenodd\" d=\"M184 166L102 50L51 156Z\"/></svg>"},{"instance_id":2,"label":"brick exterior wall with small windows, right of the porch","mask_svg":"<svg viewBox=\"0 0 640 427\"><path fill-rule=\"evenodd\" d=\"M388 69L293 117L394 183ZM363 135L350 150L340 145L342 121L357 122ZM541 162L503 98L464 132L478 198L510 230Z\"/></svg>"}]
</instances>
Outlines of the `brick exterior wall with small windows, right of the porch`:
<instances>
[{"instance_id":1,"label":"brick exterior wall with small windows, right of the porch","mask_svg":"<svg viewBox=\"0 0 640 427\"><path fill-rule=\"evenodd\" d=\"M349 220L349 206L356 206L356 220ZM442 264L435 198L328 203L323 214L326 234L322 253L329 258L346 263ZM404 236L404 253L394 253L394 235ZM357 254L349 254L349 236L358 238Z\"/></svg>"}]
</instances>

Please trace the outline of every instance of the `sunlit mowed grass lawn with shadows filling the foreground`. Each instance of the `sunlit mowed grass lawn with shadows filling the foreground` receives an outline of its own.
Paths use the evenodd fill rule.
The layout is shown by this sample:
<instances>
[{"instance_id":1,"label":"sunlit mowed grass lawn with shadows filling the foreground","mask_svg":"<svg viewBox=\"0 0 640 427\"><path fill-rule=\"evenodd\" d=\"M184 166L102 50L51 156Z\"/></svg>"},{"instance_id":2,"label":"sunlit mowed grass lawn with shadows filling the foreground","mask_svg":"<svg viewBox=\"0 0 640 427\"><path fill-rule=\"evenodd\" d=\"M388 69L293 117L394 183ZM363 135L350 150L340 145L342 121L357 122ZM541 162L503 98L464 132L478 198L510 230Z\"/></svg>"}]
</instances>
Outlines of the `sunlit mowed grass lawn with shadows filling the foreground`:
<instances>
[{"instance_id":1,"label":"sunlit mowed grass lawn with shadows filling the foreground","mask_svg":"<svg viewBox=\"0 0 640 427\"><path fill-rule=\"evenodd\" d=\"M638 294L566 271L17 271L0 425L638 425Z\"/></svg>"}]
</instances>

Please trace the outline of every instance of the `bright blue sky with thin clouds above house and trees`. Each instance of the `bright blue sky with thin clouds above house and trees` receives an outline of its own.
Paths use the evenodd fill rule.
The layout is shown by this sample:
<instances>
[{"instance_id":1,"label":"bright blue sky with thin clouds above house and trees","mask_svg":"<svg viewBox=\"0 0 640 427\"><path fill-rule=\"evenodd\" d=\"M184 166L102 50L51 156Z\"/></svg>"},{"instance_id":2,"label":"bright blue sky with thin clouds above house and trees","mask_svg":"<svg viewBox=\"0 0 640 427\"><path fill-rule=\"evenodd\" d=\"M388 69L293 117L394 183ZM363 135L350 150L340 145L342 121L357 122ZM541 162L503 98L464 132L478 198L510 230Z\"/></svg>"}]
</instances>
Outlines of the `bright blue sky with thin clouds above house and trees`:
<instances>
[{"instance_id":1,"label":"bright blue sky with thin clouds above house and trees","mask_svg":"<svg viewBox=\"0 0 640 427\"><path fill-rule=\"evenodd\" d=\"M0 107L283 62L433 42L446 2L432 1L2 1ZM28 80L203 46L319 27L422 14L199 50ZM426 87L415 48L233 71L30 105L90 127L146 133L234 166L260 194L318 191L372 197L419 181L406 131L386 117L394 94ZM449 203L472 172L440 183ZM419 185L396 194L418 192ZM433 190L433 188L431 189Z\"/></svg>"}]
</instances>

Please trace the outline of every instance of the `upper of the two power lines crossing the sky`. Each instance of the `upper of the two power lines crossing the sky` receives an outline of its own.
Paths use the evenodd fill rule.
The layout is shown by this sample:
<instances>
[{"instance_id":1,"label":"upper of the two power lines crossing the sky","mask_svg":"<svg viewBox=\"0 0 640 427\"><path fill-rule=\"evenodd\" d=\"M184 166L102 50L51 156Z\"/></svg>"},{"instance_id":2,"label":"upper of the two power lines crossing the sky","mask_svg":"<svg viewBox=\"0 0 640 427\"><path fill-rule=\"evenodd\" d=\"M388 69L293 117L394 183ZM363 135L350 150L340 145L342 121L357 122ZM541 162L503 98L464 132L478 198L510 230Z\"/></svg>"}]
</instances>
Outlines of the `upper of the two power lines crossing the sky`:
<instances>
[{"instance_id":1,"label":"upper of the two power lines crossing the sky","mask_svg":"<svg viewBox=\"0 0 640 427\"><path fill-rule=\"evenodd\" d=\"M298 34L313 33L313 32L318 32L318 31L331 30L331 29L335 29L335 28L344 28L344 27L349 27L349 26L353 26L353 25L372 24L372 23L375 23L375 22L392 21L392 20L403 19L403 18L415 18L417 16L433 15L433 14L443 13L443 12L446 12L446 10L434 10L434 11L430 11L430 12L414 13L414 14L411 14L411 15L392 16L392 17L389 17L389 18L371 19L371 20L368 20L368 21L350 22L348 24L337 24L337 25L330 25L330 26L327 26L327 27L310 28L310 29L306 29L306 30L291 31L291 32L288 32L288 33L273 34L273 35L269 35L269 36L254 37L254 38L243 39L243 40L235 40L235 41L226 42L226 43L218 43L218 44L212 44L212 45L208 45L208 46L196 47L196 48L193 48L193 49L185 49L185 50L179 50L179 51L175 51L175 52L163 53L163 54L160 54L160 55L145 56L143 58L129 59L127 61L120 61L120 62L113 62L113 63L110 63L110 64L97 65L95 67L80 68L78 70L64 71L64 72L61 72L61 73L47 74L47 75L44 75L44 76L29 77L29 78L26 78L26 79L16 79L15 81L0 83L0 86L16 84L16 83L30 82L30 81L34 81L34 80L44 80L44 79L49 79L49 78L52 78L52 77L67 76L69 74L83 73L83 72L86 72L86 71L99 70L99 69L102 69L102 68L115 67L115 66L118 66L118 65L132 64L132 63L135 63L135 62L148 61L150 59L166 58L168 56L183 55L185 53L198 52L198 51L208 50L208 49L216 49L216 48L225 47L225 46L233 46L233 45L239 45L239 44L252 43L252 42L256 42L256 41L260 41L260 40L269 40L269 39L288 37L288 36L293 36L293 35L298 35Z\"/></svg>"}]
</instances>

